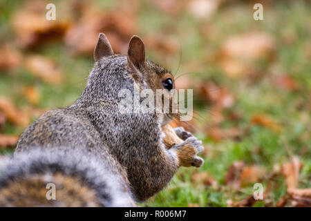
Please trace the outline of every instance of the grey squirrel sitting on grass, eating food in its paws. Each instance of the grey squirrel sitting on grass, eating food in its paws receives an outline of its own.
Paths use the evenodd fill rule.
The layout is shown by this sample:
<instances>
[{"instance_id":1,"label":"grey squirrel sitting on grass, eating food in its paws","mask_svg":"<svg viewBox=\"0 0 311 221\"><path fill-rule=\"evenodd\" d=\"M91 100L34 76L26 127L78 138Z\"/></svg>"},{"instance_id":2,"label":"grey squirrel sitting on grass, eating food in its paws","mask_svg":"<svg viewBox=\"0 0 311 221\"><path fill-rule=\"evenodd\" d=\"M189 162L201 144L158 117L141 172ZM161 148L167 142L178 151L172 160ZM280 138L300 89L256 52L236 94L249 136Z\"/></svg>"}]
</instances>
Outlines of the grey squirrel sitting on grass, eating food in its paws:
<instances>
[{"instance_id":1,"label":"grey squirrel sitting on grass, eating food in its paws","mask_svg":"<svg viewBox=\"0 0 311 221\"><path fill-rule=\"evenodd\" d=\"M197 156L202 142L183 128L173 130L182 142L164 145L169 135L162 127L176 114L118 111L122 88L133 91L134 83L153 91L174 87L171 73L145 58L140 37L131 38L127 56L115 55L100 33L94 59L77 102L44 113L22 133L14 157L0 170L0 206L35 206L37 201L44 206L135 206L167 186L178 167L202 165ZM46 182L61 186L57 193L56 184L56 194L62 200L46 200ZM39 200L31 194L34 185L40 186ZM78 193L76 186L73 197L67 185L84 191Z\"/></svg>"}]
</instances>

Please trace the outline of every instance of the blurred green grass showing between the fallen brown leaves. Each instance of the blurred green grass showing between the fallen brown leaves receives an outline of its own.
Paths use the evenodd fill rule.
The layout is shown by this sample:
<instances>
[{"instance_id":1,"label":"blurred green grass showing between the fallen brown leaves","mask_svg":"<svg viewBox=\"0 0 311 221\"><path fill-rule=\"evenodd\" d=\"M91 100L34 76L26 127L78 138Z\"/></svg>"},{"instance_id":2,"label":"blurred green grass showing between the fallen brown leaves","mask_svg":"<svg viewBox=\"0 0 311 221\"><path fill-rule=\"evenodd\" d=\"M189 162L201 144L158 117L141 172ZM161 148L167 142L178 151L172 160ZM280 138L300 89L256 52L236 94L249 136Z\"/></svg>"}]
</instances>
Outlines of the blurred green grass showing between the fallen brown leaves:
<instances>
[{"instance_id":1,"label":"blurred green grass showing between the fallen brown leaves","mask_svg":"<svg viewBox=\"0 0 311 221\"><path fill-rule=\"evenodd\" d=\"M8 41L15 34L10 27L12 13L21 4L19 1L1 3L0 25L1 41ZM98 1L99 6L117 7L109 1ZM208 171L218 182L218 188L212 189L202 183L191 182L193 168L182 168L166 189L158 193L154 198L140 205L142 206L227 206L227 200L236 201L252 195L253 184L243 186L240 191L234 191L225 185L227 169L235 161L243 161L246 165L263 166L267 171L272 171L275 164L282 164L290 159L291 155L297 155L303 164L299 181L301 188L311 187L311 117L310 117L310 93L311 93L311 63L306 56L306 48L310 46L311 39L311 6L307 1L274 1L264 8L264 21L252 19L252 6L248 4L234 3L223 6L217 12L204 21L194 19L189 12L182 12L178 18L168 15L155 8L150 3L143 3L138 11L138 35L167 35L177 39L180 44L182 56L179 54L162 55L157 50L148 50L150 59L155 59L167 68L178 73L195 72L198 75L189 75L194 82L214 81L220 86L225 86L235 102L232 110L241 114L238 123L225 120L221 126L239 128L247 127L247 134L241 140L221 140L214 142L205 131L197 131L209 151L204 155L205 164L197 172ZM210 27L210 35L202 35L202 24ZM256 81L254 84L245 84L243 79L231 79L223 73L218 64L209 57L216 55L223 41L232 35L249 31L263 31L272 35L276 42L276 55L274 61L262 61L255 64L255 69L260 73L273 76L272 68L279 68L282 73L291 76L299 88L294 91L276 88L269 77ZM294 42L289 44L284 39L284 33L290 32L294 36ZM310 49L309 49L310 50ZM24 55L32 54L28 50ZM46 84L28 71L19 67L15 73L0 73L0 95L6 96L17 106L29 106L21 94L21 88L25 85L35 85L41 93L41 101L34 108L64 107L75 102L82 93L86 84L86 78L93 66L92 57L70 57L62 43L51 44L37 51L40 55L52 58L64 72L64 82L59 86ZM309 55L310 56L310 55ZM189 70L187 64L198 61L195 70ZM198 97L198 91L194 91ZM196 124L211 124L206 104L196 104L196 111L207 119L197 120ZM281 124L281 131L276 132L270 128L254 126L250 124L252 116L262 113L272 117ZM224 113L228 119L226 113ZM19 134L23 128L7 123L3 133ZM1 150L1 153L9 154L11 151ZM270 179L267 176L267 179ZM266 188L269 180L263 180ZM270 194L272 204L275 204L285 194L286 186L283 177L276 177L275 188ZM258 202L254 206L263 206Z\"/></svg>"}]
</instances>

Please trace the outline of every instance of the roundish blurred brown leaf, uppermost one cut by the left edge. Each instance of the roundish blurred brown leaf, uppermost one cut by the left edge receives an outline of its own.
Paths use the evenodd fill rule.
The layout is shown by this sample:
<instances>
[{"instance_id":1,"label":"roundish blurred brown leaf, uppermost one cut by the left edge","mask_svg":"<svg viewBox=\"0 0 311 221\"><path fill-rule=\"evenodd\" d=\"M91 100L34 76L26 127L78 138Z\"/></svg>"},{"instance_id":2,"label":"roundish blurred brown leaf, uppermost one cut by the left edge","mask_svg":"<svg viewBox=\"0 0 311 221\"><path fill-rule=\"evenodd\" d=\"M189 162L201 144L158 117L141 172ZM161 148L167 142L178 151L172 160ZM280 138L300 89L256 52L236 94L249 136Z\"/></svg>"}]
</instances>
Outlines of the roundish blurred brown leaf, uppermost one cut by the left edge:
<instances>
[{"instance_id":1,"label":"roundish blurred brown leaf, uppermost one cut by the left edge","mask_svg":"<svg viewBox=\"0 0 311 221\"><path fill-rule=\"evenodd\" d=\"M2 46L0 55L0 70L13 70L21 64L21 53L12 46Z\"/></svg>"}]
</instances>

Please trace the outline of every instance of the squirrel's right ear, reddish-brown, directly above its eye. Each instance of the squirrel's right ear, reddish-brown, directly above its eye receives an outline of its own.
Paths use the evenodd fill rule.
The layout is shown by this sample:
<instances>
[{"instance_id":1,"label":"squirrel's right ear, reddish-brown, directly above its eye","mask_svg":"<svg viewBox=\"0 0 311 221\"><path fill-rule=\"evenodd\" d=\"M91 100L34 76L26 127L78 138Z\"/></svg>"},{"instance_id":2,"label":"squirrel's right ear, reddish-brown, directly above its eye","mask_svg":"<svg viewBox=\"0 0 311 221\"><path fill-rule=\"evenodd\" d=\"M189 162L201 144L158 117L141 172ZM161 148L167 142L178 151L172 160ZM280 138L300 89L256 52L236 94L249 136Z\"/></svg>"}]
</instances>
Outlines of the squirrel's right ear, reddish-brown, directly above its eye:
<instances>
[{"instance_id":1,"label":"squirrel's right ear, reddish-brown, directly above its eye","mask_svg":"<svg viewBox=\"0 0 311 221\"><path fill-rule=\"evenodd\" d=\"M144 42L140 37L134 35L129 41L129 48L127 50L127 63L133 64L136 68L144 66Z\"/></svg>"}]
</instances>

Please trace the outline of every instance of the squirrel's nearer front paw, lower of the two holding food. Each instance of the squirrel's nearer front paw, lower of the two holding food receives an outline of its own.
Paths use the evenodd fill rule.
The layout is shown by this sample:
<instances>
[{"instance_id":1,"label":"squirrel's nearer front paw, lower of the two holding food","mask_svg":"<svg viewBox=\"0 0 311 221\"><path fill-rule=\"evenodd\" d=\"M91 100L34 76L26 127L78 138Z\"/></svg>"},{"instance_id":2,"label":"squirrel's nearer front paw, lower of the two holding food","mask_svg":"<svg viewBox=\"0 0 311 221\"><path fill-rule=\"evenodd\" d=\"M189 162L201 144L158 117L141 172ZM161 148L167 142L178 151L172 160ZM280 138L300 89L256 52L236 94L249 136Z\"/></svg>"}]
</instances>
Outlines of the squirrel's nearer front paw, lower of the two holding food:
<instances>
[{"instance_id":1,"label":"squirrel's nearer front paw, lower of the two holding food","mask_svg":"<svg viewBox=\"0 0 311 221\"><path fill-rule=\"evenodd\" d=\"M176 144L172 148L176 149L179 166L202 166L204 160L197 154L203 151L203 146L196 137L189 137L185 142Z\"/></svg>"}]
</instances>

